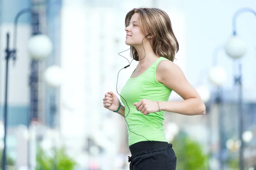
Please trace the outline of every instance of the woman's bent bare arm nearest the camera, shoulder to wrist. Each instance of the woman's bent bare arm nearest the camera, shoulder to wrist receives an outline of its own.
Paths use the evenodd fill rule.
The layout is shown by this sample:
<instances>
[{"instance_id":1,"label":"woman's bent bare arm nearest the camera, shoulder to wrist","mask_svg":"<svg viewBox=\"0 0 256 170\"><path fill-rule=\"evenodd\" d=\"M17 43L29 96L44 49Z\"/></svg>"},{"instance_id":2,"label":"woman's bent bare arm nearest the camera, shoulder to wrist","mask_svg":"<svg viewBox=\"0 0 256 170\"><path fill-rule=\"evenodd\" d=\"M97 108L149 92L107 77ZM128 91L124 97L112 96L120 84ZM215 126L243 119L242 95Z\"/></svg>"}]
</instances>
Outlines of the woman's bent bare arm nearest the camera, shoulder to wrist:
<instances>
[{"instance_id":1,"label":"woman's bent bare arm nearest the camera, shoulder to wrist","mask_svg":"<svg viewBox=\"0 0 256 170\"><path fill-rule=\"evenodd\" d=\"M180 102L161 102L162 111L180 113L183 115L199 115L205 113L205 105L201 97L187 81L183 71L169 60L161 61L157 66L157 81L175 91L184 100Z\"/></svg>"}]
</instances>

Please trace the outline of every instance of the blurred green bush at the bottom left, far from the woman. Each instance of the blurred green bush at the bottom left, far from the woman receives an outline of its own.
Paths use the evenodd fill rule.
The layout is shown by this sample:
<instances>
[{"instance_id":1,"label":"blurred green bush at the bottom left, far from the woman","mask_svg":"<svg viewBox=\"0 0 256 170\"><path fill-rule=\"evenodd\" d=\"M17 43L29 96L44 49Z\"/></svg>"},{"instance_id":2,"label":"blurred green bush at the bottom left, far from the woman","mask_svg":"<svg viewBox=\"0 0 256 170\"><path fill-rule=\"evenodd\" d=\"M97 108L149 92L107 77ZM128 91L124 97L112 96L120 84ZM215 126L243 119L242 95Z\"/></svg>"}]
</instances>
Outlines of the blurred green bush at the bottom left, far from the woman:
<instances>
[{"instance_id":1,"label":"blurred green bush at the bottom left, far from the woman","mask_svg":"<svg viewBox=\"0 0 256 170\"><path fill-rule=\"evenodd\" d=\"M65 148L55 149L51 156L42 150L38 150L35 170L74 170L76 162L67 155Z\"/></svg>"}]
</instances>

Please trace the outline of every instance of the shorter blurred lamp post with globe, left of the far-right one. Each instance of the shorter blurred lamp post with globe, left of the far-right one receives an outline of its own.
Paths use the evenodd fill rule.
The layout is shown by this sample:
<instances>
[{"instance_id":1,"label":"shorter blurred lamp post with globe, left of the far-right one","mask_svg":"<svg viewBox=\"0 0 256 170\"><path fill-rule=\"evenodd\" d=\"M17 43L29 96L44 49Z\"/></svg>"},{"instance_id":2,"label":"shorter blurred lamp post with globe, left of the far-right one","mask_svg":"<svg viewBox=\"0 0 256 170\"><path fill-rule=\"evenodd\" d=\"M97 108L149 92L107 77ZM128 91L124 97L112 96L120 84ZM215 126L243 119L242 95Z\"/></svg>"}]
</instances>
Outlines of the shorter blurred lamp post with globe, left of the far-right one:
<instances>
[{"instance_id":1,"label":"shorter blurred lamp post with globe, left of the far-right one","mask_svg":"<svg viewBox=\"0 0 256 170\"><path fill-rule=\"evenodd\" d=\"M223 46L216 46L213 50L212 53L212 68L209 71L208 78L209 82L211 82L213 85L217 86L217 95L215 98L215 102L218 105L218 124L219 124L219 162L220 162L220 170L224 169L224 159L223 159L223 128L224 128L224 122L223 122L223 116L224 116L224 111L223 111L223 89L222 85L224 84L225 80L227 79L227 73L226 71L218 66L218 53L220 51L224 50Z\"/></svg>"}]
</instances>

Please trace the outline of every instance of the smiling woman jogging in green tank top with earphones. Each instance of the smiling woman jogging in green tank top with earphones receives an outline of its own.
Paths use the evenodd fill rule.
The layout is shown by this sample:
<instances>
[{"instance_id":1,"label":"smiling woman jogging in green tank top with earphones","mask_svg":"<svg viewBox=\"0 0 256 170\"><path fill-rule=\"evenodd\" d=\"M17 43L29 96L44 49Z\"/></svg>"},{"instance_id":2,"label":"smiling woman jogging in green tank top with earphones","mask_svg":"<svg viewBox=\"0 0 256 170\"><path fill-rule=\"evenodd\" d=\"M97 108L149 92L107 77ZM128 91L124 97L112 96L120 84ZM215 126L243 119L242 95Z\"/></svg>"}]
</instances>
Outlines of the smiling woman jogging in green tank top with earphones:
<instances>
[{"instance_id":1,"label":"smiling woman jogging in green tank top with earphones","mask_svg":"<svg viewBox=\"0 0 256 170\"><path fill-rule=\"evenodd\" d=\"M105 94L103 105L125 117L130 170L175 170L176 156L163 133L164 113L205 113L205 105L183 71L173 63L179 49L169 16L157 8L134 8L125 17L125 43L139 61L120 93ZM171 91L184 100L169 102Z\"/></svg>"}]
</instances>

